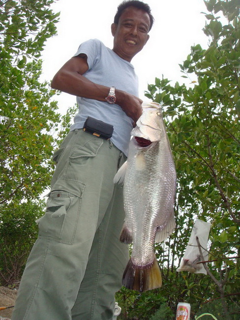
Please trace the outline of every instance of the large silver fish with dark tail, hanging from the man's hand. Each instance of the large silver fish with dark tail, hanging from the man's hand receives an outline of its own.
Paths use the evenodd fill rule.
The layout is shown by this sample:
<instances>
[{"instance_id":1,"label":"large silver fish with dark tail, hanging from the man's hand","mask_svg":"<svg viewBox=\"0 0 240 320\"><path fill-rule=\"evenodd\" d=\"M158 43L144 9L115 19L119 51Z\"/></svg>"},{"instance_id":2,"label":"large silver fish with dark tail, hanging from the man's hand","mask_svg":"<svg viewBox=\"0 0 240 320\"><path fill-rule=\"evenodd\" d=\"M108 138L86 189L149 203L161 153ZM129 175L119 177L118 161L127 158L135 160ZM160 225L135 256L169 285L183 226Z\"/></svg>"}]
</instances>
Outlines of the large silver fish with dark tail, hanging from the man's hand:
<instances>
[{"instance_id":1,"label":"large silver fish with dark tail, hanging from the man's hand","mask_svg":"<svg viewBox=\"0 0 240 320\"><path fill-rule=\"evenodd\" d=\"M122 284L138 291L159 288L161 272L155 242L175 228L176 170L158 103L143 103L143 114L132 130L127 161L114 182L123 183L125 222L120 241L133 242Z\"/></svg>"}]
</instances>

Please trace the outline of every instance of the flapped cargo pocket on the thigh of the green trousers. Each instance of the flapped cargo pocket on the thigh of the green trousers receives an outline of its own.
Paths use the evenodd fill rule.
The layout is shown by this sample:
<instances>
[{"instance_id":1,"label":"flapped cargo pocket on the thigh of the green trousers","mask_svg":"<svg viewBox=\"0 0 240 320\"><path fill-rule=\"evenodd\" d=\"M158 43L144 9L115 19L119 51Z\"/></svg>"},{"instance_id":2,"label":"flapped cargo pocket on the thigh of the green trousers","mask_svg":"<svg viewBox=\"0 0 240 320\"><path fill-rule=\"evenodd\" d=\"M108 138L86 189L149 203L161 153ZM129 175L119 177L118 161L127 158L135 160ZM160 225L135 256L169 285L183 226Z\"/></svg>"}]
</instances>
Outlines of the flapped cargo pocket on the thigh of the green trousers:
<instances>
[{"instance_id":1,"label":"flapped cargo pocket on the thigh of the green trousers","mask_svg":"<svg viewBox=\"0 0 240 320\"><path fill-rule=\"evenodd\" d=\"M50 192L46 213L38 220L39 237L72 244L79 219L81 200L82 193L76 195L63 190Z\"/></svg>"}]
</instances>

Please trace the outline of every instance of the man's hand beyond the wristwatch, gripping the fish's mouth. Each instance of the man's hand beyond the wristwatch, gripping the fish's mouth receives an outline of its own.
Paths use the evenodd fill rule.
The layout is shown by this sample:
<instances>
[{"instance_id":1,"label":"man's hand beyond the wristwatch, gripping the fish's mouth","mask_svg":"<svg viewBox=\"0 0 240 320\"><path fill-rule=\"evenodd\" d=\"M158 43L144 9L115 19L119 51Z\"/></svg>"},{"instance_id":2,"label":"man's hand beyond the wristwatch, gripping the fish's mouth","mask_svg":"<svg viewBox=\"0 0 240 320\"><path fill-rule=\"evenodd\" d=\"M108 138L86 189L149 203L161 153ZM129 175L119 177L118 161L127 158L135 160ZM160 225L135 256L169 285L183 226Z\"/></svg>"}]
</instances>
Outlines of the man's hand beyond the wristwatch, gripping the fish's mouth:
<instances>
[{"instance_id":1,"label":"man's hand beyond the wristwatch, gripping the fish's mouth","mask_svg":"<svg viewBox=\"0 0 240 320\"><path fill-rule=\"evenodd\" d=\"M141 100L137 96L132 96L124 91L116 89L117 104L120 105L125 114L132 118L134 124L138 121L139 117L143 113Z\"/></svg>"}]
</instances>

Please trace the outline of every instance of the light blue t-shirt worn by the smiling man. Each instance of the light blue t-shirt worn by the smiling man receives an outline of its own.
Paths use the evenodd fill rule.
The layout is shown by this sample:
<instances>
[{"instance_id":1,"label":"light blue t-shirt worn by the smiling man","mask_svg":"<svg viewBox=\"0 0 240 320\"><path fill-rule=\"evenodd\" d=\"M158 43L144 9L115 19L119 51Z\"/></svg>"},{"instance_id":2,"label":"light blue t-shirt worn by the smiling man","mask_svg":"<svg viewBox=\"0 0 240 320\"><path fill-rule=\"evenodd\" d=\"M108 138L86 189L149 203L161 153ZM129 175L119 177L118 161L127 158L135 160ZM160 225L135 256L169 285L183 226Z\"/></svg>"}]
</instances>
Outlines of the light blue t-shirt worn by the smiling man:
<instances>
[{"instance_id":1,"label":"light blue t-shirt worn by the smiling man","mask_svg":"<svg viewBox=\"0 0 240 320\"><path fill-rule=\"evenodd\" d=\"M90 81L107 87L116 87L138 96L138 78L134 67L107 48L101 41L90 39L83 42L74 57L86 54L89 70L83 75ZM83 128L88 116L114 126L111 141L127 155L132 119L117 104L77 96L79 112L74 117L70 130Z\"/></svg>"}]
</instances>

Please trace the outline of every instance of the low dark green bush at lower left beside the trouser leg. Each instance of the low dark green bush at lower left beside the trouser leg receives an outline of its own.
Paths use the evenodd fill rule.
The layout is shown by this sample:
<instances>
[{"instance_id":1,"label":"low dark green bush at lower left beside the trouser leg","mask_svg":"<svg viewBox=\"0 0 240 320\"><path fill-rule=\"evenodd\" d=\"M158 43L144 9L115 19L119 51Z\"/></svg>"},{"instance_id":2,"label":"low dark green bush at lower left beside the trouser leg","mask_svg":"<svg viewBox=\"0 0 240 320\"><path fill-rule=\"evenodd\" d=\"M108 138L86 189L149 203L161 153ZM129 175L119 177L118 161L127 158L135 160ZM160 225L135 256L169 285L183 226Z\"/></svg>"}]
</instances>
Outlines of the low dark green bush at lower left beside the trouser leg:
<instances>
[{"instance_id":1,"label":"low dark green bush at lower left beside the trouser leg","mask_svg":"<svg viewBox=\"0 0 240 320\"><path fill-rule=\"evenodd\" d=\"M44 212L45 202L11 203L0 212L0 285L20 281L30 249L36 240L35 222Z\"/></svg>"}]
</instances>

